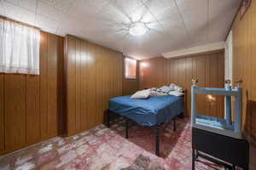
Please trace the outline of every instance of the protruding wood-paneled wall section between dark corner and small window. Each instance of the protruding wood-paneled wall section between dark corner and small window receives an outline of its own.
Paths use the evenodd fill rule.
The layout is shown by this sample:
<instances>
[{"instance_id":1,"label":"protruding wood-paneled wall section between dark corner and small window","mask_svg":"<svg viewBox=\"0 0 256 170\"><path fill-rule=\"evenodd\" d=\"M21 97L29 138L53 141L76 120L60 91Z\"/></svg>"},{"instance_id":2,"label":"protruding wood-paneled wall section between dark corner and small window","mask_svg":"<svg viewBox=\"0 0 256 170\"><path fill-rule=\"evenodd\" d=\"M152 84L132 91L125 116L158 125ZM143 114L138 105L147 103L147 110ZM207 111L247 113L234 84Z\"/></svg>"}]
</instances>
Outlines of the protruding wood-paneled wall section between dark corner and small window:
<instances>
[{"instance_id":1,"label":"protruding wood-paneled wall section between dark corner and small window","mask_svg":"<svg viewBox=\"0 0 256 170\"><path fill-rule=\"evenodd\" d=\"M122 95L123 55L66 37L67 136L103 122L108 99Z\"/></svg>"}]
</instances>

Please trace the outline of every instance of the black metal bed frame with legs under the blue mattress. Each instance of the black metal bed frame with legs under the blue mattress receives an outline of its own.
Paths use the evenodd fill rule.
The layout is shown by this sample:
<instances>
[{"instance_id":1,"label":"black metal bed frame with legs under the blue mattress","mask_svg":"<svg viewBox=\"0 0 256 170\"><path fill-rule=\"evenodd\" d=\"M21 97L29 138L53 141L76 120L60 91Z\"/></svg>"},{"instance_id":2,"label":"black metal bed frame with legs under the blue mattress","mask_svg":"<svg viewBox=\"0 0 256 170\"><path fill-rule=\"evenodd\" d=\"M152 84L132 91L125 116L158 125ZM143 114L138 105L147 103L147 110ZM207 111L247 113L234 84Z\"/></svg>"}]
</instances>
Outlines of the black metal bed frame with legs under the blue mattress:
<instances>
[{"instance_id":1,"label":"black metal bed frame with legs under the blue mattress","mask_svg":"<svg viewBox=\"0 0 256 170\"><path fill-rule=\"evenodd\" d=\"M182 113L179 113L177 116L172 117L172 119L170 120L173 121L173 131L176 131L176 119L177 117L183 118L184 112L186 111L186 90L184 90L184 95L183 95L183 99L184 99L184 111ZM119 115L118 113L114 113L113 111L106 111L107 114L107 126L110 127L110 117L111 115ZM125 119L125 138L128 139L129 138L129 127L130 127L130 122L135 122L125 116L121 116ZM135 122L137 123L137 122ZM158 125L152 126L150 128L154 129L154 154L156 156L160 156L160 130L162 127L164 127L166 123L160 123Z\"/></svg>"}]
</instances>

